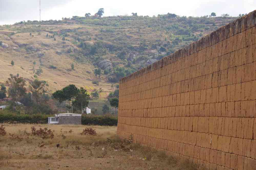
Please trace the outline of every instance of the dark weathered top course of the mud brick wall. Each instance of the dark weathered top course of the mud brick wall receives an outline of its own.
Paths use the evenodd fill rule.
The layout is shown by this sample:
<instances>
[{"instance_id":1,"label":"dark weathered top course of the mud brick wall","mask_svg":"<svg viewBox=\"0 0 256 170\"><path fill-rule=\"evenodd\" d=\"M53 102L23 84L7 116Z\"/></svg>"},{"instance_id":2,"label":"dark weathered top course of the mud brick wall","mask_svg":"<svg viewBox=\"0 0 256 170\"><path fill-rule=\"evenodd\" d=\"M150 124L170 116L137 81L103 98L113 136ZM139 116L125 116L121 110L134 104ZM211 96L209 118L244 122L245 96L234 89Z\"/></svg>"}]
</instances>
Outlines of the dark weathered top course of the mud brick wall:
<instances>
[{"instance_id":1,"label":"dark weathered top course of the mud brick wall","mask_svg":"<svg viewBox=\"0 0 256 170\"><path fill-rule=\"evenodd\" d=\"M220 27L216 31L213 31L212 33L202 37L201 39L192 42L191 44L187 45L184 48L181 48L177 50L176 52L163 57L162 59L158 60L157 62L148 65L145 68L142 68L126 77L123 77L119 80L119 84L122 84L124 82L127 82L129 80L135 79L137 77L140 77L144 74L147 74L148 72L151 72L153 70L157 70L159 68L162 68L163 66L166 66L170 63L173 63L180 58L189 56L193 53L197 53L204 48L207 48L209 46L212 46L220 41L223 41L229 37L232 37L238 33L241 33L247 29L250 29L252 27L256 26L256 10L250 12L248 15L245 15L241 18L238 18L237 20L230 22L229 24Z\"/></svg>"}]
</instances>

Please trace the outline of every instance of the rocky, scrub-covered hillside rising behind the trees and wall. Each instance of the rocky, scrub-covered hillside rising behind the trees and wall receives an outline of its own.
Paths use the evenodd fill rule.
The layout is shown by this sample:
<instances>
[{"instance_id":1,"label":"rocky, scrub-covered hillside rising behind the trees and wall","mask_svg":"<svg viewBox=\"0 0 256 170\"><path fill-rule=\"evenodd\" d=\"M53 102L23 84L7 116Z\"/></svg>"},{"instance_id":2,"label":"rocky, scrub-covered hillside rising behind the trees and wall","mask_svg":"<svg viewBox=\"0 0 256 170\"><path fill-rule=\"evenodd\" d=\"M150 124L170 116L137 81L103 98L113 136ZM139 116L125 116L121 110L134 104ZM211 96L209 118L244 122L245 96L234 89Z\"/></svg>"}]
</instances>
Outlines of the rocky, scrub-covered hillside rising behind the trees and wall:
<instances>
[{"instance_id":1,"label":"rocky, scrub-covered hillside rising behind the trees and wall","mask_svg":"<svg viewBox=\"0 0 256 170\"><path fill-rule=\"evenodd\" d=\"M49 93L72 83L89 92L101 89L100 98L106 98L114 90L111 84L117 84L119 78L235 19L74 16L71 20L21 21L0 26L0 82L18 73L27 81L36 77L45 80ZM101 68L100 79L94 74L96 68ZM99 80L99 85L93 80Z\"/></svg>"}]
</instances>

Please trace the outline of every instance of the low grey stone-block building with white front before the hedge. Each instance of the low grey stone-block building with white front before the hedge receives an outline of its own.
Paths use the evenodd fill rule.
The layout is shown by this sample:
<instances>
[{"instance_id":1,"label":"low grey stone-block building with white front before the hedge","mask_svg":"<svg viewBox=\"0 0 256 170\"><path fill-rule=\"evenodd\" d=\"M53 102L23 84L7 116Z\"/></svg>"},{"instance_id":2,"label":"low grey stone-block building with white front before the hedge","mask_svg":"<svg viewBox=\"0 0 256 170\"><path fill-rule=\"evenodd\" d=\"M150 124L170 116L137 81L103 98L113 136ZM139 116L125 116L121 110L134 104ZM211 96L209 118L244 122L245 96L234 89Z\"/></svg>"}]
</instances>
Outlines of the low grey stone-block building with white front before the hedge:
<instances>
[{"instance_id":1,"label":"low grey stone-block building with white front before the hedge","mask_svg":"<svg viewBox=\"0 0 256 170\"><path fill-rule=\"evenodd\" d=\"M81 114L76 114L76 113L55 114L54 117L48 117L48 124L81 125Z\"/></svg>"}]
</instances>

